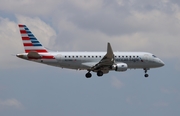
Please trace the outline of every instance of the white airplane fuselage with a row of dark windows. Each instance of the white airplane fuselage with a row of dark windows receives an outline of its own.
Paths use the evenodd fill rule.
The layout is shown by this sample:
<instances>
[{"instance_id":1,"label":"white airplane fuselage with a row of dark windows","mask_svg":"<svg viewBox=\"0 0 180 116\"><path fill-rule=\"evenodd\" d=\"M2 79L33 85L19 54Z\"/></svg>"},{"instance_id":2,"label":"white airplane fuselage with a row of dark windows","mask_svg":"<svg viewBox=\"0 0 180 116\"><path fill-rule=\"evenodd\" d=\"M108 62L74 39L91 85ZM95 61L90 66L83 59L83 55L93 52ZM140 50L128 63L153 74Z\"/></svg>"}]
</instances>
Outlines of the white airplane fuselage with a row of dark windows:
<instances>
[{"instance_id":1,"label":"white airplane fuselage with a row of dark windows","mask_svg":"<svg viewBox=\"0 0 180 116\"><path fill-rule=\"evenodd\" d=\"M53 59L28 59L27 53L23 53L23 59L62 68L88 70L105 54L106 52L48 52L40 55L52 55ZM147 52L114 52L114 59L115 63L126 63L129 69L150 69L164 65L162 60Z\"/></svg>"}]
</instances>

